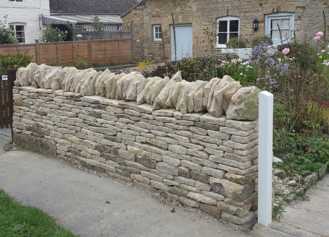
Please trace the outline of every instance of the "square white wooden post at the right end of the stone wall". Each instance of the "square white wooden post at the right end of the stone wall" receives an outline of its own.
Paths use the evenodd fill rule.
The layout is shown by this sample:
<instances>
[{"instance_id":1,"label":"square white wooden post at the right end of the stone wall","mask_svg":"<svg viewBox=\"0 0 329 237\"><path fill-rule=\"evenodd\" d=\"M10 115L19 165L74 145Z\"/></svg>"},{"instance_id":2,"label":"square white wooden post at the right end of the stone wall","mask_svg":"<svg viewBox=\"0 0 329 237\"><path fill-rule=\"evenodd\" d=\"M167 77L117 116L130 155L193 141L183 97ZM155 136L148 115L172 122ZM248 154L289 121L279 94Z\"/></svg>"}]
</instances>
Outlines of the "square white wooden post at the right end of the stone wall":
<instances>
[{"instance_id":1,"label":"square white wooden post at the right end of the stone wall","mask_svg":"<svg viewBox=\"0 0 329 237\"><path fill-rule=\"evenodd\" d=\"M273 95L259 93L258 115L258 223L272 222Z\"/></svg>"}]
</instances>

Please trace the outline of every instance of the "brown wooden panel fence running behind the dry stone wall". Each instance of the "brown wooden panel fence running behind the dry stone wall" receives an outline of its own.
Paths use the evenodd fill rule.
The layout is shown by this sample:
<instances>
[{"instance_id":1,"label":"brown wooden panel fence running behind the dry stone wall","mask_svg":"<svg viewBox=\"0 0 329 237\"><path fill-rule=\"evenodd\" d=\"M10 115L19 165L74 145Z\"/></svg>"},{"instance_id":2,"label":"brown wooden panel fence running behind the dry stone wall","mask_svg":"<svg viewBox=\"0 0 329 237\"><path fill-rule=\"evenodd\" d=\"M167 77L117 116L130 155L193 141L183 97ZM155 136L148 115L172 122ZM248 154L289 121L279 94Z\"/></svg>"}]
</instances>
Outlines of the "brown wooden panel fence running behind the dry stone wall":
<instances>
[{"instance_id":1,"label":"brown wooden panel fence running behind the dry stone wall","mask_svg":"<svg viewBox=\"0 0 329 237\"><path fill-rule=\"evenodd\" d=\"M91 50L90 54L89 50ZM0 55L16 54L17 52L31 55L33 60L39 64L51 65L51 61L53 61L62 67L70 66L78 59L90 63L108 64L129 63L133 59L131 39L91 40L91 48L88 41L0 46Z\"/></svg>"}]
</instances>

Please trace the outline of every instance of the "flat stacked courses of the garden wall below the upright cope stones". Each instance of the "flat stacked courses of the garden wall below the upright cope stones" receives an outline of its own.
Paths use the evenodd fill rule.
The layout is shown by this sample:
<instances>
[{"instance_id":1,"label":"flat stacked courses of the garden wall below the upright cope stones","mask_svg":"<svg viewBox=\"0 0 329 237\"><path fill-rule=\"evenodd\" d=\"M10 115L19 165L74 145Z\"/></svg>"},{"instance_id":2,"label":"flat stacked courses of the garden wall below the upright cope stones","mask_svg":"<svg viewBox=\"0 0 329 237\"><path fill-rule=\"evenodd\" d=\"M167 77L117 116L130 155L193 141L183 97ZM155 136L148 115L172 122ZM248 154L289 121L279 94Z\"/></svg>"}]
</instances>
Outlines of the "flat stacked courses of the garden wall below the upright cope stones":
<instances>
[{"instance_id":1,"label":"flat stacked courses of the garden wall below the upright cope stones","mask_svg":"<svg viewBox=\"0 0 329 237\"><path fill-rule=\"evenodd\" d=\"M236 225L255 222L257 121L31 86L13 92L16 138L54 141L60 159Z\"/></svg>"}]
</instances>

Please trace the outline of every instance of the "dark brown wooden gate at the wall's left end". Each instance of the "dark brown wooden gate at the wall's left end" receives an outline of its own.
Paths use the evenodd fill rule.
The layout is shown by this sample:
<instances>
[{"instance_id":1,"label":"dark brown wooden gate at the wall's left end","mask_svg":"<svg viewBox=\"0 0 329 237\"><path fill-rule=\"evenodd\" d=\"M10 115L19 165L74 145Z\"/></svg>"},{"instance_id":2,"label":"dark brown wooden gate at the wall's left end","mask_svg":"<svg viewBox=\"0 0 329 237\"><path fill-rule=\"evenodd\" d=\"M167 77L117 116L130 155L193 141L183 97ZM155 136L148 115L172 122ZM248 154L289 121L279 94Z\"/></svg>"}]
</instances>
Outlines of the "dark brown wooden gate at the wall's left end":
<instances>
[{"instance_id":1,"label":"dark brown wooden gate at the wall's left end","mask_svg":"<svg viewBox=\"0 0 329 237\"><path fill-rule=\"evenodd\" d=\"M17 70L0 72L0 129L11 128L13 137L13 87ZM7 75L6 75L7 74Z\"/></svg>"}]
</instances>

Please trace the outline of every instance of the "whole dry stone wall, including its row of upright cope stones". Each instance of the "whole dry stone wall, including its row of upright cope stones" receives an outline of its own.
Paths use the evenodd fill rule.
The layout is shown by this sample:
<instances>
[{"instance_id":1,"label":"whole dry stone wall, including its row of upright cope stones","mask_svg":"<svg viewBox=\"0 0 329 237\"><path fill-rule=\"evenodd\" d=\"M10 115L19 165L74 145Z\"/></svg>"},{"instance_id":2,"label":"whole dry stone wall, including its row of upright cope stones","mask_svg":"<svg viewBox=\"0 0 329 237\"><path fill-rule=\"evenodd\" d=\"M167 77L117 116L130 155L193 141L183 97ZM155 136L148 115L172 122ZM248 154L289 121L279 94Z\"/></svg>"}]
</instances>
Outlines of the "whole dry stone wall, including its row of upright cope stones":
<instances>
[{"instance_id":1,"label":"whole dry stone wall, including its row of upright cope stones","mask_svg":"<svg viewBox=\"0 0 329 237\"><path fill-rule=\"evenodd\" d=\"M240 88L229 77L214 78L209 85L183 82L180 74L171 79L144 78L139 73L41 67L48 66L17 72L15 83L20 86L13 90L13 126L18 145L36 137L34 142L53 145L60 159L159 190L237 227L256 222L258 121L229 119L225 111L235 111L231 115L238 119L253 113L257 117L254 107L248 107L249 113L239 102L255 103L257 88ZM34 85L27 85L32 77ZM158 82L156 87L149 83L152 80ZM115 92L105 86L114 81ZM177 99L171 100L169 95L179 83ZM54 89L45 89L52 84ZM210 94L217 98L214 104L213 98L208 100ZM203 107L209 103L213 113ZM195 112L198 106L200 111Z\"/></svg>"}]
</instances>

